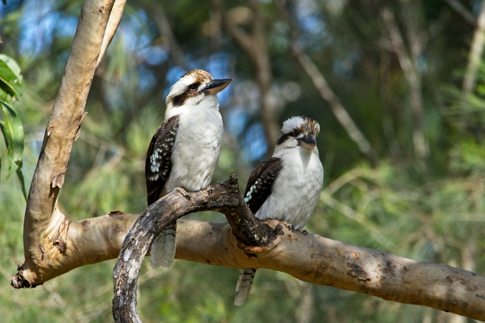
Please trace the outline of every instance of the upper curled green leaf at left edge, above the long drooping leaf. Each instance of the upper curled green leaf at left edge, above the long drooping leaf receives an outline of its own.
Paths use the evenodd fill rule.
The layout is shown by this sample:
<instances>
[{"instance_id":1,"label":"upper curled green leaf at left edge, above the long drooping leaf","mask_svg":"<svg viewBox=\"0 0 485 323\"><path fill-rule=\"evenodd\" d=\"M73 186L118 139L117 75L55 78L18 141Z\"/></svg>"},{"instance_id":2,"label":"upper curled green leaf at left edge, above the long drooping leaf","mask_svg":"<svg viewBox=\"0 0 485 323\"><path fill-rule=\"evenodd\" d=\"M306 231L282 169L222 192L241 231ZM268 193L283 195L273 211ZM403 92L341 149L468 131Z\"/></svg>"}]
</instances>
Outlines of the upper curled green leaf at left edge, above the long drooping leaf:
<instances>
[{"instance_id":1,"label":"upper curled green leaf at left edge, above the long drooping leaf","mask_svg":"<svg viewBox=\"0 0 485 323\"><path fill-rule=\"evenodd\" d=\"M18 97L22 94L22 75L17 62L5 54L0 54L0 99Z\"/></svg>"}]
</instances>

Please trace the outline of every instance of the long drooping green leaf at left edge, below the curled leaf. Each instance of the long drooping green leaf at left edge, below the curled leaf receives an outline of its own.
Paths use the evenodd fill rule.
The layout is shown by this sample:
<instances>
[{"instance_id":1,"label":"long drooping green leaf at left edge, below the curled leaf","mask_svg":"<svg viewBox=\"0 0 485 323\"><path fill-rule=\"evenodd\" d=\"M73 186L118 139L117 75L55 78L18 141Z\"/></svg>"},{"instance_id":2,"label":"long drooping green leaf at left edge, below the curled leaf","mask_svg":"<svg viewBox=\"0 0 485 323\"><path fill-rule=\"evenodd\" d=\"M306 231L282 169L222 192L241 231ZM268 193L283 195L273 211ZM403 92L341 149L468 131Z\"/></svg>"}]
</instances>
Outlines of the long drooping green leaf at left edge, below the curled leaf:
<instances>
[{"instance_id":1,"label":"long drooping green leaf at left edge, below the curled leaf","mask_svg":"<svg viewBox=\"0 0 485 323\"><path fill-rule=\"evenodd\" d=\"M8 179L14 170L19 171L22 168L24 128L14 107L2 100L0 100L0 106L3 111L3 121L0 122L0 128L7 146ZM21 185L23 186L23 183Z\"/></svg>"}]
</instances>

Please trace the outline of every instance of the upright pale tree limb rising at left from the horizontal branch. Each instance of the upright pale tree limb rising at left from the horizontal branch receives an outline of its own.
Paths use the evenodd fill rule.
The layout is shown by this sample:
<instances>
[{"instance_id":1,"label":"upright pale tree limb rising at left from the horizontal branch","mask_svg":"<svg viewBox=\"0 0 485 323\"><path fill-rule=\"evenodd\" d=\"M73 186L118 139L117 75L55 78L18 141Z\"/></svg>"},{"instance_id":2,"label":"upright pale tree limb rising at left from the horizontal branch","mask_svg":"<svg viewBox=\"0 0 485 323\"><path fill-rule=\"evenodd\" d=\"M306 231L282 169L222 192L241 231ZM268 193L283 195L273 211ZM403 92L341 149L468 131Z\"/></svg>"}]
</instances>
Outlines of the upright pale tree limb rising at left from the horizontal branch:
<instances>
[{"instance_id":1,"label":"upright pale tree limb rising at left from the horizontal branch","mask_svg":"<svg viewBox=\"0 0 485 323\"><path fill-rule=\"evenodd\" d=\"M25 262L12 278L15 287L51 276L46 263L65 252L62 231L70 221L59 211L57 197L64 184L73 142L79 136L84 106L105 38L114 0L85 0L67 59L61 87L47 125L33 174L24 219ZM103 41L104 40L104 41ZM109 42L108 42L109 43ZM55 246L54 248L52 246Z\"/></svg>"}]
</instances>

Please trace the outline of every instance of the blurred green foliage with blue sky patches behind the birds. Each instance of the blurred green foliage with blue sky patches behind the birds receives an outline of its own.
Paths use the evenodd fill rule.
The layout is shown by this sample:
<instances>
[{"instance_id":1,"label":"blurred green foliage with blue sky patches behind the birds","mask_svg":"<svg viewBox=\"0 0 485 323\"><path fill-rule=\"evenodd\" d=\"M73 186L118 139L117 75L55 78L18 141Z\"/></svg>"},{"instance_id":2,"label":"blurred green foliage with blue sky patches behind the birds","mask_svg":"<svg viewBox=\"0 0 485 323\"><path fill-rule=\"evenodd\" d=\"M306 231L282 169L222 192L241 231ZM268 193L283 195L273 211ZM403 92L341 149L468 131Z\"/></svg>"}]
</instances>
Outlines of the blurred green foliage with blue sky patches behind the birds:
<instances>
[{"instance_id":1,"label":"blurred green foliage with blue sky patches behind the birds","mask_svg":"<svg viewBox=\"0 0 485 323\"><path fill-rule=\"evenodd\" d=\"M41 3L42 2L42 3ZM245 1L225 1L243 30ZM466 2L478 15L481 1ZM260 1L275 118L318 120L325 169L321 201L307 231L416 260L447 263L484 275L485 68L463 93L474 26L446 1L295 1L298 40L358 127L372 143L372 167L290 54L289 24L272 1ZM420 78L429 154L416 155L411 87L379 12L387 8ZM80 1L17 0L0 7L0 51L23 71L16 103L25 129L23 169L29 185L80 12ZM244 14L246 13L246 14ZM412 15L406 15L412 13ZM218 24L210 2L128 2L121 25L93 80L81 136L73 147L60 195L70 219L146 208L147 144L164 114L169 87L187 69L203 68L234 81L221 92L226 134L214 182L235 172L243 187L272 153L259 118L251 61ZM164 24L166 23L166 24ZM170 27L167 30L166 26ZM419 35L422 42L412 57ZM173 42L171 40L173 37ZM174 54L179 50L183 55ZM446 55L444 55L446 53ZM7 155L0 145L0 158ZM5 178L6 168L0 169ZM25 201L9 178L0 185L0 315L3 322L110 322L114 261L84 266L34 290L12 290L23 262ZM217 213L190 217L224 221ZM187 261L170 270L144 264L138 310L144 322L444 322L457 317L430 308L302 283L259 270L249 299L233 306L239 271ZM355 310L349 310L349 308ZM15 310L14 310L15 309ZM466 321L466 319L464 319ZM456 322L456 321L454 321Z\"/></svg>"}]
</instances>

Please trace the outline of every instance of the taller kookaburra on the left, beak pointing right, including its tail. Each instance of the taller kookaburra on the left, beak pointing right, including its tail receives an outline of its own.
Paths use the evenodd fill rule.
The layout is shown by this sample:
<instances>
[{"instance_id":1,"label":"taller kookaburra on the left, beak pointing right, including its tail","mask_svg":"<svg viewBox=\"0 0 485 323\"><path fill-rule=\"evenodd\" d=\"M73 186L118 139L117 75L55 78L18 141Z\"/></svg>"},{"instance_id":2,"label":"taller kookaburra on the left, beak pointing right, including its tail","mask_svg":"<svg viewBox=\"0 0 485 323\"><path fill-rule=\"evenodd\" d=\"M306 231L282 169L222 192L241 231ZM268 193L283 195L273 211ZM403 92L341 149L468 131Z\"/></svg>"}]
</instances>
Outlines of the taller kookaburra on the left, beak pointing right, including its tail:
<instances>
[{"instance_id":1,"label":"taller kookaburra on the left, beak pointing right, including its tail","mask_svg":"<svg viewBox=\"0 0 485 323\"><path fill-rule=\"evenodd\" d=\"M153 135L145 162L148 206L176 189L207 188L219 161L223 121L217 93L232 81L213 79L200 69L186 73L170 88L165 119ZM187 196L187 195L186 195ZM177 220L152 243L150 265L170 267L175 258Z\"/></svg>"}]
</instances>

